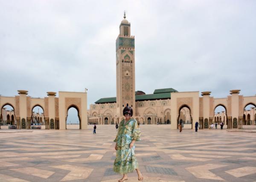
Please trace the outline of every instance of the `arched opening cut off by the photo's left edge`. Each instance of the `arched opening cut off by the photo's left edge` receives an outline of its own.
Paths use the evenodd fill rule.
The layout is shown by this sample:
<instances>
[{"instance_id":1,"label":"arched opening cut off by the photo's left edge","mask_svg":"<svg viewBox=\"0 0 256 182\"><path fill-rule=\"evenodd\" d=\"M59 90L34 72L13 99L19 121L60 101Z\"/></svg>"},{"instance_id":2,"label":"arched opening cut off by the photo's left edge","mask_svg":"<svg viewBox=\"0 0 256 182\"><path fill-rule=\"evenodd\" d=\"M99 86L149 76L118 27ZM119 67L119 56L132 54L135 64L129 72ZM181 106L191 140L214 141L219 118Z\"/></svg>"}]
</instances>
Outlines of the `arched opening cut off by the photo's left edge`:
<instances>
[{"instance_id":1,"label":"arched opening cut off by the photo's left edge","mask_svg":"<svg viewBox=\"0 0 256 182\"><path fill-rule=\"evenodd\" d=\"M0 111L0 129L16 129L17 121L15 117L14 107L6 103L2 106Z\"/></svg>"}]
</instances>

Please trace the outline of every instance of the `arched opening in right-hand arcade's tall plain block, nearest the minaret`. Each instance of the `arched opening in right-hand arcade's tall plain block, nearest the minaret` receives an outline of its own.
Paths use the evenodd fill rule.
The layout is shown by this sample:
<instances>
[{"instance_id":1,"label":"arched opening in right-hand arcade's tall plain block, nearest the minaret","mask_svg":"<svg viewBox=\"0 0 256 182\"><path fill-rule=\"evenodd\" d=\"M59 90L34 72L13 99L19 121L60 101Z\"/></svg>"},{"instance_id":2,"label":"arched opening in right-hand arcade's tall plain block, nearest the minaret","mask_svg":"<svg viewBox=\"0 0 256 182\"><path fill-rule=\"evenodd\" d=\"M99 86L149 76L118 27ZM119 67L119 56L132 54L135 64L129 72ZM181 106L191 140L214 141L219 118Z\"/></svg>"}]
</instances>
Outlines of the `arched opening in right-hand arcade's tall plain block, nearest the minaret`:
<instances>
[{"instance_id":1,"label":"arched opening in right-hand arcade's tall plain block, nearest the minaret","mask_svg":"<svg viewBox=\"0 0 256 182\"><path fill-rule=\"evenodd\" d=\"M191 116L191 109L188 105L182 105L179 108L179 114L177 118L177 129L178 125L181 123L184 129L192 129L193 120Z\"/></svg>"}]
</instances>

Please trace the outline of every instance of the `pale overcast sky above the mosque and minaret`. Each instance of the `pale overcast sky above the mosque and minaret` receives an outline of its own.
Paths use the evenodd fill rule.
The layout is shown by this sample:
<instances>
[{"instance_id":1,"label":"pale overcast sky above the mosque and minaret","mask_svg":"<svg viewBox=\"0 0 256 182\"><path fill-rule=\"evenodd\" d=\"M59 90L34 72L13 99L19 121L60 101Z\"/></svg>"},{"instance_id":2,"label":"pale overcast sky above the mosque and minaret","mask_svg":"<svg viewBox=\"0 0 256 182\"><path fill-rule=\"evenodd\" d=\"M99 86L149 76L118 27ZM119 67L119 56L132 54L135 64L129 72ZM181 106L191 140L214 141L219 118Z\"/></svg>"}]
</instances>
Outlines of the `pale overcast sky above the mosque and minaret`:
<instances>
[{"instance_id":1,"label":"pale overcast sky above the mosque and minaret","mask_svg":"<svg viewBox=\"0 0 256 182\"><path fill-rule=\"evenodd\" d=\"M116 96L115 41L125 10L136 90L256 94L255 0L0 0L0 94Z\"/></svg>"}]
</instances>

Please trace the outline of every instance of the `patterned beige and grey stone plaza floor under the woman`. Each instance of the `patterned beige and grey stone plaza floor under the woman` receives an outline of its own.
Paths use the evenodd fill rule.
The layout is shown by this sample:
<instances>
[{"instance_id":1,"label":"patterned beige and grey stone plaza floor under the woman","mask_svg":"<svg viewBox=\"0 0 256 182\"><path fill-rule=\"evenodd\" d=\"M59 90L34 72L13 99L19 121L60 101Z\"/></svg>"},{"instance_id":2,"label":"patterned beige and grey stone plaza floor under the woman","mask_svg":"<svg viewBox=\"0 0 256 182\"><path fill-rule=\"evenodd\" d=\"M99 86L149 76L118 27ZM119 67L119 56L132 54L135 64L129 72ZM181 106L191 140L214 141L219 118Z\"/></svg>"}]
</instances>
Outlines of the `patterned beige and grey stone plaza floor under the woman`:
<instances>
[{"instance_id":1,"label":"patterned beige and grey stone plaza floor under the woman","mask_svg":"<svg viewBox=\"0 0 256 182\"><path fill-rule=\"evenodd\" d=\"M169 127L140 125L135 153L143 182L256 181L256 133ZM1 130L0 182L116 182L115 125L98 125L96 134L88 128ZM128 177L138 181L135 171Z\"/></svg>"}]
</instances>

